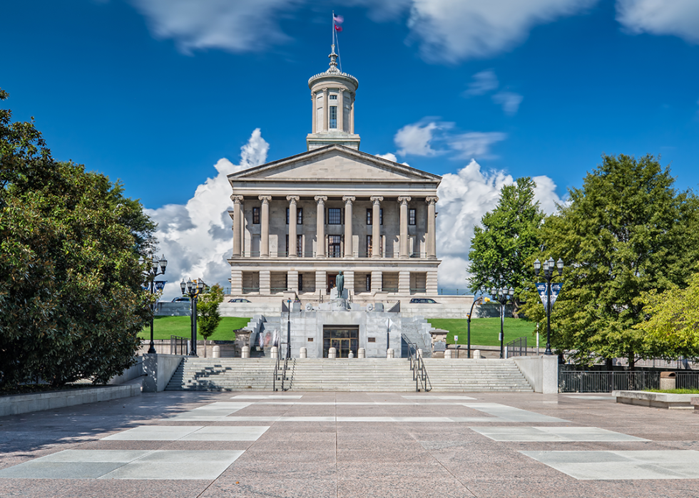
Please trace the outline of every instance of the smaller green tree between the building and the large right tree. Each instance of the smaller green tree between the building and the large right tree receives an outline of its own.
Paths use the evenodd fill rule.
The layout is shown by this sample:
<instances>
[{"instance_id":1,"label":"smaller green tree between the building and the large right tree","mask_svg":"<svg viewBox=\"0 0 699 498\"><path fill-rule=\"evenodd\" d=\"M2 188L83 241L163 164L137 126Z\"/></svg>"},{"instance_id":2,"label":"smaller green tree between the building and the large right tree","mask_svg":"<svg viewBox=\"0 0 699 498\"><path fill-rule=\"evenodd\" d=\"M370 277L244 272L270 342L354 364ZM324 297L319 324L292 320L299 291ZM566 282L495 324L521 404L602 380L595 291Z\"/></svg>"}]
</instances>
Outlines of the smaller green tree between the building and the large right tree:
<instances>
[{"instance_id":1,"label":"smaller green tree between the building and the large right tree","mask_svg":"<svg viewBox=\"0 0 699 498\"><path fill-rule=\"evenodd\" d=\"M514 316L521 304L521 293L529 284L529 256L539 249L539 227L544 213L534 202L536 184L529 177L518 178L516 185L505 185L492 212L481 219L483 227L474 227L469 260L471 289L512 287Z\"/></svg>"}]
</instances>

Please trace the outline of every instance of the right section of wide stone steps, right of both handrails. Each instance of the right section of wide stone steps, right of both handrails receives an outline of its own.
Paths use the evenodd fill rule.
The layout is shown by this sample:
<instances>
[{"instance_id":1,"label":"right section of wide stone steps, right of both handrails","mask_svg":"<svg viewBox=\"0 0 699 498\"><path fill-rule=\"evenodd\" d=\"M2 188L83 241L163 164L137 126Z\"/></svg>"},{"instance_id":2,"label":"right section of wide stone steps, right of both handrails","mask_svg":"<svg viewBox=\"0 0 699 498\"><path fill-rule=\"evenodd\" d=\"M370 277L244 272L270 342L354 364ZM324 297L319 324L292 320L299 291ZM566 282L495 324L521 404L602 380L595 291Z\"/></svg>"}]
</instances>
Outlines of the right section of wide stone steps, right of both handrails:
<instances>
[{"instance_id":1,"label":"right section of wide stone steps, right of both handrails","mask_svg":"<svg viewBox=\"0 0 699 498\"><path fill-rule=\"evenodd\" d=\"M439 392L506 391L531 393L533 389L513 360L445 360L425 358L432 390Z\"/></svg>"}]
</instances>

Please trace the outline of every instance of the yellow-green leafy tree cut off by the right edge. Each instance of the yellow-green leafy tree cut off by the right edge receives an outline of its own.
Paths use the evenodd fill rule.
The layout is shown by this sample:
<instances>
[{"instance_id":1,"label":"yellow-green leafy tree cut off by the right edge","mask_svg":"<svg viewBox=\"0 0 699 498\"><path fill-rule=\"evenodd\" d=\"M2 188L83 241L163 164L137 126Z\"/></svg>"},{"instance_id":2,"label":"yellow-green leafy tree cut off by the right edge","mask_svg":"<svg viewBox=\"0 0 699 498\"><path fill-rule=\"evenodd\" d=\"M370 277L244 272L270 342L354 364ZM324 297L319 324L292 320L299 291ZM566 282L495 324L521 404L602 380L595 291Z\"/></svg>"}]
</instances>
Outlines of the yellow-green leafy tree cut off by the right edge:
<instances>
[{"instance_id":1,"label":"yellow-green leafy tree cut off by the right edge","mask_svg":"<svg viewBox=\"0 0 699 498\"><path fill-rule=\"evenodd\" d=\"M636 325L655 356L699 357L699 275L686 289L650 291L643 296L648 320Z\"/></svg>"}]
</instances>

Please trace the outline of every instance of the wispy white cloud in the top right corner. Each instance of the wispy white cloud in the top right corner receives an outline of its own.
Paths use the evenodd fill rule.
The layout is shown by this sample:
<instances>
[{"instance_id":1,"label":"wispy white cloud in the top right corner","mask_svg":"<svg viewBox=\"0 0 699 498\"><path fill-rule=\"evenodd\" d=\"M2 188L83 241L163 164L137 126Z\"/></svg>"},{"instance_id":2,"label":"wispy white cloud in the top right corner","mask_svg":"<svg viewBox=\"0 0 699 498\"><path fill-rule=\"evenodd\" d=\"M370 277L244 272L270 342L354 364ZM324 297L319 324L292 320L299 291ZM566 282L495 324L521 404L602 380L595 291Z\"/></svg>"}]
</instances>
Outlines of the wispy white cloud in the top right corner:
<instances>
[{"instance_id":1,"label":"wispy white cloud in the top right corner","mask_svg":"<svg viewBox=\"0 0 699 498\"><path fill-rule=\"evenodd\" d=\"M699 43L697 0L617 0L616 20L630 33L673 35Z\"/></svg>"}]
</instances>

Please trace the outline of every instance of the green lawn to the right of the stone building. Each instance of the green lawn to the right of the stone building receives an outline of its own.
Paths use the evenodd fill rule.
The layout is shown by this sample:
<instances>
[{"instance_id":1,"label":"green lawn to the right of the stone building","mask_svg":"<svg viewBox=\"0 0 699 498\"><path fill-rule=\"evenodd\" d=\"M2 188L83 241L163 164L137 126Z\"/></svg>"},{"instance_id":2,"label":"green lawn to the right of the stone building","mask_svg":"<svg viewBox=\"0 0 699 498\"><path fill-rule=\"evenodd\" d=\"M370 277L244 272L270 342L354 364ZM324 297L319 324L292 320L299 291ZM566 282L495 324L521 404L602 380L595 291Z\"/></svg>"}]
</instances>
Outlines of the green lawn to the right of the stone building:
<instances>
[{"instance_id":1,"label":"green lawn to the right of the stone building","mask_svg":"<svg viewBox=\"0 0 699 498\"><path fill-rule=\"evenodd\" d=\"M467 343L466 318L427 318L434 328L443 328L449 331L447 343L454 344L454 335L459 336L459 344ZM536 338L532 334L536 330L536 323L522 318L505 318L504 332L505 343L516 338L527 336L532 338L531 345L536 346ZM471 344L479 346L500 346L500 318L474 318L471 320ZM527 340L529 346L529 339Z\"/></svg>"}]
</instances>

